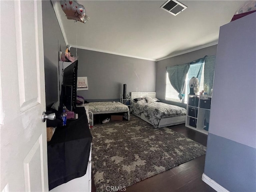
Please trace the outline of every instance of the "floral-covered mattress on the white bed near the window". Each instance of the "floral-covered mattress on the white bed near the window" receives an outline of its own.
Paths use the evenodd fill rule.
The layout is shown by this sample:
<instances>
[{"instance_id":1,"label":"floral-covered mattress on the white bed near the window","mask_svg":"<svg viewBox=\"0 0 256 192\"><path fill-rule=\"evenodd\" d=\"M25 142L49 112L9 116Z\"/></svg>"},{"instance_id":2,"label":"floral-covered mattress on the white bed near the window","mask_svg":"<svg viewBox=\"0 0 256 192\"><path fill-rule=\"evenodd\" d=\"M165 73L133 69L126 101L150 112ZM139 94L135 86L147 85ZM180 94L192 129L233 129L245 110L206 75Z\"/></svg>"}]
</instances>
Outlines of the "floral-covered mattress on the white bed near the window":
<instances>
[{"instance_id":1,"label":"floral-covered mattress on the white bed near the window","mask_svg":"<svg viewBox=\"0 0 256 192\"><path fill-rule=\"evenodd\" d=\"M186 109L162 102L134 102L131 105L132 114L140 116L144 114L145 118L157 128L163 118L186 116Z\"/></svg>"}]
</instances>

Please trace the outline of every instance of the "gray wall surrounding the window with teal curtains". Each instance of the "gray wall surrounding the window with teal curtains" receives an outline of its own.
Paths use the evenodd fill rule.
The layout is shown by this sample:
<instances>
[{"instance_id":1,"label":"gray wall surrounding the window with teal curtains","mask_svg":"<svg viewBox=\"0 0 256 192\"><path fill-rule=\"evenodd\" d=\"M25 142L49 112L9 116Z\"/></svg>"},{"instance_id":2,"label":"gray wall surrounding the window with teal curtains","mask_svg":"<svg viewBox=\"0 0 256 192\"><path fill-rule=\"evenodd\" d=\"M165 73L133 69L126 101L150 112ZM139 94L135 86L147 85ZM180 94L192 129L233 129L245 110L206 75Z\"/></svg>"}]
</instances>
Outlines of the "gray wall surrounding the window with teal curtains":
<instances>
[{"instance_id":1,"label":"gray wall surrounding the window with teal curtains","mask_svg":"<svg viewBox=\"0 0 256 192\"><path fill-rule=\"evenodd\" d=\"M160 101L174 104L186 108L186 104L179 102L172 102L165 100L166 92L166 66L173 66L179 64L185 64L194 61L199 58L203 58L206 55L216 55L217 45L182 54L176 57L168 58L165 60L158 61L156 64L156 97Z\"/></svg>"}]
</instances>

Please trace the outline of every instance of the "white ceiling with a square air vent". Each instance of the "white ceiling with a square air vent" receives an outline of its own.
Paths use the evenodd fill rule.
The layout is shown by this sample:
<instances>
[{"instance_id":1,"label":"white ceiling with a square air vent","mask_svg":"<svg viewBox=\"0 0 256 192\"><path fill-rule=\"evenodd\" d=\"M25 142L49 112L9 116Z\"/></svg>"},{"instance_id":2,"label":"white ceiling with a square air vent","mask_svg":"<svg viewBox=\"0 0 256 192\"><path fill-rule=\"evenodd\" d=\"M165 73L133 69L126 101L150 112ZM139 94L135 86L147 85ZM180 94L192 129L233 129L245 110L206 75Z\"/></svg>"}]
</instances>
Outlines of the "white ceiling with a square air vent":
<instances>
[{"instance_id":1,"label":"white ceiling with a square air vent","mask_svg":"<svg viewBox=\"0 0 256 192\"><path fill-rule=\"evenodd\" d=\"M189 0L173 16L162 0L77 1L90 20L68 20L59 2L54 9L66 44L100 52L161 60L218 43L220 26L230 22L245 1ZM56 10L56 8L58 10Z\"/></svg>"}]
</instances>

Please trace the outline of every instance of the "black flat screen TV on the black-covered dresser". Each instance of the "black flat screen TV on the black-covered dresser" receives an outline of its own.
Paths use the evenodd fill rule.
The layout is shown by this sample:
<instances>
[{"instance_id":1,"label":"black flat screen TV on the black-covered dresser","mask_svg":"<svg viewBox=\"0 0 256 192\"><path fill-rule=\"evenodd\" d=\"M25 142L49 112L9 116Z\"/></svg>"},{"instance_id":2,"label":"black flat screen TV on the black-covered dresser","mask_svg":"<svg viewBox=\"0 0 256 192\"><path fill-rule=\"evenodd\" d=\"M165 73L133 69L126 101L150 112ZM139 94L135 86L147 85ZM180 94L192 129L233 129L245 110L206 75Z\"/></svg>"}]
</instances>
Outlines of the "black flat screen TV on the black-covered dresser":
<instances>
[{"instance_id":1,"label":"black flat screen TV on the black-covered dresser","mask_svg":"<svg viewBox=\"0 0 256 192\"><path fill-rule=\"evenodd\" d=\"M70 111L76 109L77 69L78 60L64 69L60 94L60 109L62 109L63 105Z\"/></svg>"}]
</instances>

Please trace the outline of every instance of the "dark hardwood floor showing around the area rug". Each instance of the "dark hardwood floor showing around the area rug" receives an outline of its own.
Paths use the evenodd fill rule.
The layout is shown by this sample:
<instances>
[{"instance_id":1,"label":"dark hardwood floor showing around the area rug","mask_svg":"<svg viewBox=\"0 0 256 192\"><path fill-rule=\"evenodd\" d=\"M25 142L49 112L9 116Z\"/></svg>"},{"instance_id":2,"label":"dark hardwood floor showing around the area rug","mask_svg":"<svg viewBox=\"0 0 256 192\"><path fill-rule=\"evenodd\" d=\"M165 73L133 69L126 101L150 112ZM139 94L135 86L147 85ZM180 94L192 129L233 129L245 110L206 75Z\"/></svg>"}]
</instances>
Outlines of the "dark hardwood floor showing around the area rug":
<instances>
[{"instance_id":1,"label":"dark hardwood floor showing around the area rug","mask_svg":"<svg viewBox=\"0 0 256 192\"><path fill-rule=\"evenodd\" d=\"M185 124L170 126L170 129L206 146L207 135L185 127ZM202 181L205 155L147 178L126 188L126 192L215 192ZM92 176L92 192L96 192Z\"/></svg>"}]
</instances>

